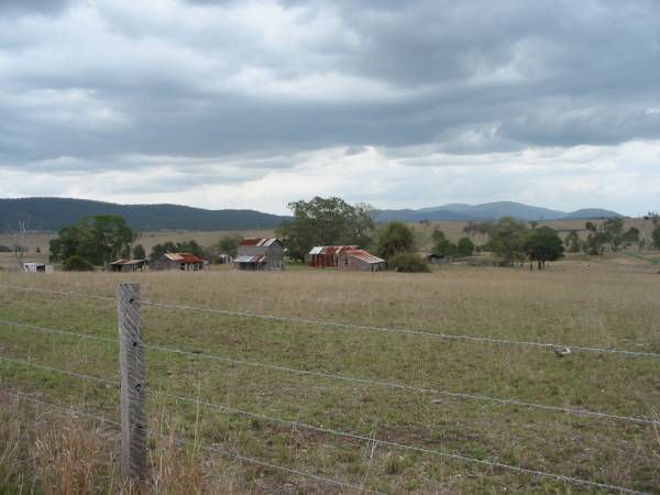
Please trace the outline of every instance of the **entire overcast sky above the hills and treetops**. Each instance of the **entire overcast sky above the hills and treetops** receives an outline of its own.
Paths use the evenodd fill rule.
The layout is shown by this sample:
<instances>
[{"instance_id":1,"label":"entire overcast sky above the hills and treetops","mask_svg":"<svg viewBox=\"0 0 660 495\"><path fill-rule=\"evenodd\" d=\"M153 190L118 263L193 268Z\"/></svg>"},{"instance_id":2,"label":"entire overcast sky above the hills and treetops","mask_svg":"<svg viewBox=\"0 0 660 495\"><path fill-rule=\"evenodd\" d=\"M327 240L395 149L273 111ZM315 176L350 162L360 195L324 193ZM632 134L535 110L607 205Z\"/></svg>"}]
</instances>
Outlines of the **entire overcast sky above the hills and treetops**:
<instances>
[{"instance_id":1,"label":"entire overcast sky above the hills and treetops","mask_svg":"<svg viewBox=\"0 0 660 495\"><path fill-rule=\"evenodd\" d=\"M0 0L0 197L660 209L657 0Z\"/></svg>"}]
</instances>

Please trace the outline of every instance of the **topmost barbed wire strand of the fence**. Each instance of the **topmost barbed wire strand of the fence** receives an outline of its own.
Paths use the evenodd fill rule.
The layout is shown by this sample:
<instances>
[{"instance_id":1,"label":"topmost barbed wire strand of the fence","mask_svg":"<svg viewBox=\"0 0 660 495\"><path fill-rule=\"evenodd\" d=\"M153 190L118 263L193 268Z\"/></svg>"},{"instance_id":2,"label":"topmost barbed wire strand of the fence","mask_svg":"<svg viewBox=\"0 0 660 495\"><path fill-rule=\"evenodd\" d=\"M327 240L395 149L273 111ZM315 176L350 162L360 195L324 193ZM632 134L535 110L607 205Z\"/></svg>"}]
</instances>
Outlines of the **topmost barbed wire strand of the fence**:
<instances>
[{"instance_id":1,"label":"topmost barbed wire strand of the fence","mask_svg":"<svg viewBox=\"0 0 660 495\"><path fill-rule=\"evenodd\" d=\"M0 288L29 290L29 292L36 292L36 293L55 294L55 295L101 299L101 300L117 300L114 297L110 297L110 296L79 294L79 293L73 293L73 292L42 289L42 288L35 288L35 287L13 286L13 285L7 285L7 284L0 284ZM311 319L311 318L298 318L298 317L284 317L284 316L275 316L275 315L262 315L258 312L251 312L251 311L232 311L232 310L228 310L228 309L206 308L206 307L199 307L199 306L179 305L179 304L165 302L165 301L152 301L148 299L141 299L141 300L139 300L139 302L142 302L145 306L154 306L154 307L162 307L162 308L169 308L169 309L205 311L205 312L212 312L212 314L224 315L224 316L233 316L233 317L241 317L241 318L258 318L258 319L271 320L271 321L284 321L284 322L290 322L290 323L314 324L314 326L318 326L318 327L333 327L333 328L373 331L373 332L382 332L382 333L396 333L396 334L403 334L403 336L418 336L418 337L428 337L428 338L443 339L443 340L459 340L459 341L482 342L482 343L493 343L493 344L524 345L524 346L542 348L542 349L550 349L550 350L570 349L571 351L619 354L619 355L625 355L625 356L630 356L630 358L635 356L635 358L660 359L660 353L657 353L657 352L627 351L627 350L623 350L623 349L557 344L557 343L550 343L550 342L496 339L493 337L483 337L483 336L438 333L438 332L430 332L430 331L426 331L426 330L410 330L410 329L402 329L402 328L378 327L378 326L371 326L371 324L342 323L339 321L327 321L327 320L317 320L317 319Z\"/></svg>"}]
</instances>

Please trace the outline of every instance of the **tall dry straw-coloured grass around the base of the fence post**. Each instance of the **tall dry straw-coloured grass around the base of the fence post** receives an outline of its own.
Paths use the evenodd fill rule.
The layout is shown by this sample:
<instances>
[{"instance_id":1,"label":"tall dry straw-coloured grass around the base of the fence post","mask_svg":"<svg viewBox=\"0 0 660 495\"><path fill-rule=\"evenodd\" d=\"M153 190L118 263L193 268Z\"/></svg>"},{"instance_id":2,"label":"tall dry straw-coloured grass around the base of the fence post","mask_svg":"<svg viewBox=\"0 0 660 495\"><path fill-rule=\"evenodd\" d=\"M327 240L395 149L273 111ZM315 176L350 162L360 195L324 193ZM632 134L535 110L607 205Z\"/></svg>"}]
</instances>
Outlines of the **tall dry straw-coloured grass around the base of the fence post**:
<instances>
[{"instance_id":1,"label":"tall dry straw-coloured grass around the base of the fence post","mask_svg":"<svg viewBox=\"0 0 660 495\"><path fill-rule=\"evenodd\" d=\"M158 421L142 488L119 470L119 432L112 425L63 413L0 391L0 493L43 495L250 493L231 464L218 463L199 449L183 448L174 430Z\"/></svg>"}]
</instances>

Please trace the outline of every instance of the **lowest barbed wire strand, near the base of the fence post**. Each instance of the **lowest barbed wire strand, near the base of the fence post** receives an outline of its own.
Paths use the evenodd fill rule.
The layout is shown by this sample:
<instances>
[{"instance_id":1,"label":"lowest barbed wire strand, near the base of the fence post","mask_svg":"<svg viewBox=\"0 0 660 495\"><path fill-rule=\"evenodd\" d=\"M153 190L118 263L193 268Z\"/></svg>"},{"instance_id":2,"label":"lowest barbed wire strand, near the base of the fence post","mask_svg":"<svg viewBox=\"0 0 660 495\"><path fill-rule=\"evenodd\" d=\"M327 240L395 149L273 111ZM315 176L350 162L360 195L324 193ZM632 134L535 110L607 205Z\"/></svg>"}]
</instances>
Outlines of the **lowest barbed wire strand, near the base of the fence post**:
<instances>
[{"instance_id":1,"label":"lowest barbed wire strand, near the base of the fence post","mask_svg":"<svg viewBox=\"0 0 660 495\"><path fill-rule=\"evenodd\" d=\"M105 418L102 416L97 416L97 415L94 415L91 413L87 413L87 411L84 411L84 410L80 410L80 409L76 409L76 408L73 408L73 407L63 407L63 406L59 406L57 404L48 403L46 400L42 400L42 399L38 399L36 397L33 397L33 396L30 396L30 395L26 395L26 394L22 394L22 393L15 393L15 392L9 392L9 391L1 391L0 395L2 395L2 394L11 395L11 396L14 396L16 398L25 399L25 400L29 400L29 402L32 402L32 403L40 404L40 405L45 406L45 407L50 407L50 408L56 409L58 413L66 414L67 416L69 414L79 415L79 416L87 417L89 419L95 419L97 421L100 421L101 424L109 424L112 427L121 428L121 425L119 422L117 422L117 421L113 421L113 420ZM197 442L193 442L190 440L183 440L183 439L175 439L175 441L178 444L184 444L184 446L187 444L187 446L198 447L198 448L200 448L202 450L206 450L208 452L219 453L221 455L229 457L229 458L235 459L238 461L242 461L242 462L251 463L251 464L255 464L255 465L261 465L262 468L267 468L267 469L272 469L272 470L276 470L276 471L282 471L282 472L289 473L289 474L295 474L297 476L308 477L308 479L314 480L316 482L327 483L327 484L331 484L331 485L334 485L334 486L340 486L342 488L349 488L349 490L352 490L354 492L371 493L371 494L376 494L376 495L387 495L387 494L385 494L383 492L376 492L374 490L365 488L363 486L353 485L353 484L350 484L350 483L346 483L346 482L334 480L332 477L321 476L321 475L318 475L318 474L308 473L306 471L300 471L300 470L296 470L296 469L293 469L293 468L286 468L286 466L282 466L282 465L278 465L278 464L273 464L271 462L266 462L266 461L262 461L262 460L258 460L258 459L250 458L250 457L240 454L238 452L232 452L232 451L229 451L229 450L219 449L217 447L210 447L210 446L199 444Z\"/></svg>"}]
</instances>

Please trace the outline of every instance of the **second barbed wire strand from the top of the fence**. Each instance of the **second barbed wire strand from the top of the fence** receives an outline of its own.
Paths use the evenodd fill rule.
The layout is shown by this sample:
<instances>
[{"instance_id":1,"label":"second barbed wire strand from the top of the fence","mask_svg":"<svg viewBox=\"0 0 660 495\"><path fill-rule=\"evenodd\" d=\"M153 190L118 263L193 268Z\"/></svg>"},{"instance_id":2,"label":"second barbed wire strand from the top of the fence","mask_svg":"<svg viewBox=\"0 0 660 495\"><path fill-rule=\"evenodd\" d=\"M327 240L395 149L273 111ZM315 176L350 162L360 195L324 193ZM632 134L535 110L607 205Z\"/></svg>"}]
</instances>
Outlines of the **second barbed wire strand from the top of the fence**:
<instances>
[{"instance_id":1,"label":"second barbed wire strand from the top of the fence","mask_svg":"<svg viewBox=\"0 0 660 495\"><path fill-rule=\"evenodd\" d=\"M110 339L110 338L100 337L100 336L90 336L87 333L77 333L77 332L72 332L72 331L67 331L67 330L54 329L51 327L33 326L33 324L29 324L29 323L22 323L22 322L18 322L18 321L9 321L9 320L0 320L0 324L12 326L12 327L18 327L18 328L28 328L31 330L43 331L43 332L53 332L56 334L64 334L64 336L68 336L68 337L79 337L82 339L99 340L102 342L111 342L113 344L117 344L116 339ZM298 370L298 369L282 366L282 365L277 365L277 364L258 363L258 362L241 360L241 359L235 359L235 358L228 358L228 356L206 354L206 353L199 353L199 352L193 352L193 351L185 351L182 349L165 348L165 346L147 344L147 343L144 343L143 346L145 349L155 350L155 351L160 351L160 352L180 354L180 355L186 355L186 356L196 358L196 359L219 361L222 363L237 364L237 365L249 366L249 367L258 367L258 369L264 369L264 370L280 371L280 372L285 372L285 373L292 373L292 374L304 375L304 376L315 376L315 377L327 378L327 380L342 381L342 382L349 382L349 383L359 383L362 385L370 385L370 386L376 386L376 387L403 389L403 391L416 392L416 393L420 393L420 394L442 395L446 397L459 398L459 399L488 402L488 403L494 403L494 404L499 404L499 405L525 407L525 408L530 408L530 409L540 409L540 410L546 410L546 411L550 411L550 413L564 413L564 414L572 414L572 415L591 416L591 417L602 418L602 419L612 419L612 420L617 420L617 421L629 421L629 422L636 422L636 424L660 426L659 420L648 419L648 418L644 418L644 417L615 415L612 413L604 413L604 411L590 410L590 409L578 409L578 408L573 408L573 407L551 406L551 405L546 405L546 404L527 403L527 402L518 400L518 399L498 398L498 397L491 397L487 395L469 394L469 393L464 393L464 392L443 391L443 389L429 388L429 387L418 387L415 385L408 385L408 384L403 384L403 383L383 382L383 381L371 380L371 378L345 376L345 375L340 375L340 374L334 374L334 373ZM435 400L435 403L438 403L438 400Z\"/></svg>"}]
</instances>

